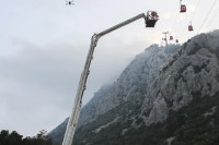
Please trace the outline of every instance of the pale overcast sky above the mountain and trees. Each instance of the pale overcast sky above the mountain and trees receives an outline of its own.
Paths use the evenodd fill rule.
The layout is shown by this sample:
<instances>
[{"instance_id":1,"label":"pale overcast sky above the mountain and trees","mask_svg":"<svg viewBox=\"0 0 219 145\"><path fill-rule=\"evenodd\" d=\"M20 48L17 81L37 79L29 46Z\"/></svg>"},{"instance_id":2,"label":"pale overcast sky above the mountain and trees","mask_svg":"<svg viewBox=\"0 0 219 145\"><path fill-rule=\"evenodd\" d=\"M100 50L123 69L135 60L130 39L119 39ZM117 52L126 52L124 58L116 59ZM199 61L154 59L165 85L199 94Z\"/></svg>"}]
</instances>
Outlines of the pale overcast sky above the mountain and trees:
<instances>
[{"instance_id":1,"label":"pale overcast sky above the mountain and trees","mask_svg":"<svg viewBox=\"0 0 219 145\"><path fill-rule=\"evenodd\" d=\"M91 65L85 105L104 84L169 31L180 43L217 29L219 1L184 0L2 0L0 4L0 130L33 136L53 130L71 113L91 36L127 19L158 11L155 28L139 20L99 40ZM196 9L197 8L197 9ZM215 16L215 19L212 19ZM187 32L189 21L194 32ZM200 29L200 31L199 31Z\"/></svg>"}]
</instances>

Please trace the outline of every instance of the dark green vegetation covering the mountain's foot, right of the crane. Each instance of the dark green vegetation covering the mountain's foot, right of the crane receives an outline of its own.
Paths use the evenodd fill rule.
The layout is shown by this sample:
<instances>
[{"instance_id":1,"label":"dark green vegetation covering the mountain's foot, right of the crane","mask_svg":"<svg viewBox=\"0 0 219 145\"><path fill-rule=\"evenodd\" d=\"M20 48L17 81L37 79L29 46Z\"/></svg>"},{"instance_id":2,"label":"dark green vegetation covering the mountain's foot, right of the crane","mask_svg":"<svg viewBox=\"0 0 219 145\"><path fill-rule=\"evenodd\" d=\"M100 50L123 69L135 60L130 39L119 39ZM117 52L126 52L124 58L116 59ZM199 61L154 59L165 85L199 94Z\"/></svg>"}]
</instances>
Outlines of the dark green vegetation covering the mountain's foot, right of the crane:
<instances>
[{"instance_id":1,"label":"dark green vegetation covering the mountain's foot, right of the crane","mask_svg":"<svg viewBox=\"0 0 219 145\"><path fill-rule=\"evenodd\" d=\"M219 93L201 98L198 94L194 93L188 106L170 111L162 123L134 129L129 128L131 120L123 120L127 116L124 114L117 123L94 133L99 126L122 114L124 108L117 107L78 130L73 145L168 145L170 137L174 138L172 145L219 145ZM122 135L124 129L128 131Z\"/></svg>"}]
</instances>

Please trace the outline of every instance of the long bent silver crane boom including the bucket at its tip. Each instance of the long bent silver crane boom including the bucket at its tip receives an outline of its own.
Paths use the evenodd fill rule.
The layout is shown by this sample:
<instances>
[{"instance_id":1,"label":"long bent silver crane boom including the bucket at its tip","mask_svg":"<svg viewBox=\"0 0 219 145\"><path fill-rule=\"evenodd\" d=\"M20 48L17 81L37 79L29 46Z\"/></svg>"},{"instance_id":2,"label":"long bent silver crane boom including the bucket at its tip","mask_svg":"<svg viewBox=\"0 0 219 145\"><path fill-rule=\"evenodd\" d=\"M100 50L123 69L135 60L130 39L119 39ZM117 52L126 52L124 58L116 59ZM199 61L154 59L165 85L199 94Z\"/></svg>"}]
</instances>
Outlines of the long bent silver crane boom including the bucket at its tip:
<instances>
[{"instance_id":1,"label":"long bent silver crane boom including the bucket at its tip","mask_svg":"<svg viewBox=\"0 0 219 145\"><path fill-rule=\"evenodd\" d=\"M137 16L134 16L134 17L131 17L131 19L129 19L129 20L127 20L123 23L119 23L119 24L117 24L117 25L115 25L115 26L113 26L108 29L105 29L105 31L103 31L99 34L94 34L92 36L89 53L88 53L87 61L85 61L85 64L84 64L84 68L83 68L83 72L81 74L81 78L80 78L80 82L79 82L79 87L78 87L77 96L76 96L76 99L74 99L72 113L69 118L69 122L68 122L68 125L67 125L67 129L66 129L66 134L65 134L65 137L64 137L62 145L72 145L73 135L74 135L74 132L76 132L76 128L77 128L77 123L78 123L78 119L79 119L79 114L80 114L80 110L81 110L82 96L83 96L83 93L85 90L85 84L87 84L88 75L90 73L89 69L90 69L90 65L91 65L91 61L93 59L93 52L94 52L94 48L97 45L97 40L102 36L106 35L108 33L112 33L113 31L120 28L120 27L123 27L123 26L125 26L125 25L127 25L131 22L135 22L139 19L142 19L142 17L145 19L146 26L147 26L147 24L149 24L149 26L147 26L147 27L153 27L155 22L158 21L158 15L154 15L154 12L153 12L152 16L149 15L149 12L147 14L148 14L147 16L143 13L138 14ZM152 24L152 26L151 26L151 24Z\"/></svg>"}]
</instances>

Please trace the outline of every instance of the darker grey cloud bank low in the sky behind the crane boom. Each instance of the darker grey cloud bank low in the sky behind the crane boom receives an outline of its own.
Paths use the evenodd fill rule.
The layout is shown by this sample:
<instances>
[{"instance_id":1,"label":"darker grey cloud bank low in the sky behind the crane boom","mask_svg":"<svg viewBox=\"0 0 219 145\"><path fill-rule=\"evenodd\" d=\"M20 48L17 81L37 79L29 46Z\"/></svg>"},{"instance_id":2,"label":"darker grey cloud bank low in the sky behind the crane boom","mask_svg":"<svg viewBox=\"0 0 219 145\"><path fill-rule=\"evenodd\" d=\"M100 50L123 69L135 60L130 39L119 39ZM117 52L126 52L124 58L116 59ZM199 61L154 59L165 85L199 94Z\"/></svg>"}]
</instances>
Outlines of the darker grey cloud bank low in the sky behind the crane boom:
<instances>
[{"instance_id":1,"label":"darker grey cloud bank low in the sky behind the crane boom","mask_svg":"<svg viewBox=\"0 0 219 145\"><path fill-rule=\"evenodd\" d=\"M0 129L19 130L24 135L50 131L70 116L89 47L18 44L16 53L0 57L0 106L5 110ZM118 43L116 51L113 46L96 48L83 104L103 84L115 81L131 60L128 51L123 53L122 45Z\"/></svg>"}]
</instances>

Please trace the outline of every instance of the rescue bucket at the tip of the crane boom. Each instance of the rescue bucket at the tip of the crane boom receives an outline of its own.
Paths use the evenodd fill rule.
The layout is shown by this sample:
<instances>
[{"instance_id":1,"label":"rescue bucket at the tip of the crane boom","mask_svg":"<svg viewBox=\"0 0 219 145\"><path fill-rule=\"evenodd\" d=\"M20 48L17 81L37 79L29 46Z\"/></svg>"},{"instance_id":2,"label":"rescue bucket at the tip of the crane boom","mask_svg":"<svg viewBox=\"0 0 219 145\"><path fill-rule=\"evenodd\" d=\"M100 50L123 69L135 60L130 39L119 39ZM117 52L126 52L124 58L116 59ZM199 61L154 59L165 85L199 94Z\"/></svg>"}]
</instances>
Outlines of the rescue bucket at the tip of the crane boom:
<instances>
[{"instance_id":1,"label":"rescue bucket at the tip of the crane boom","mask_svg":"<svg viewBox=\"0 0 219 145\"><path fill-rule=\"evenodd\" d=\"M155 22L159 20L155 11L148 11L146 16L146 27L154 27Z\"/></svg>"}]
</instances>

